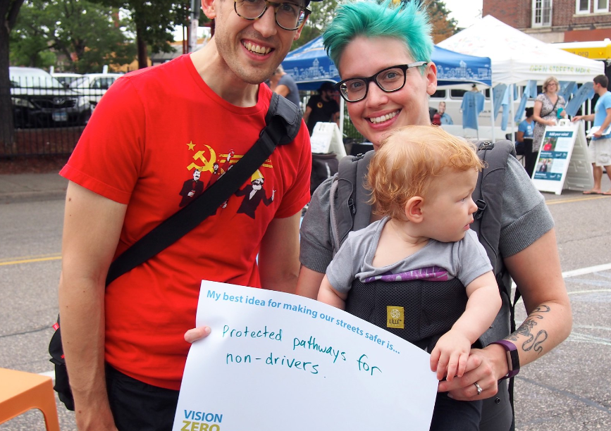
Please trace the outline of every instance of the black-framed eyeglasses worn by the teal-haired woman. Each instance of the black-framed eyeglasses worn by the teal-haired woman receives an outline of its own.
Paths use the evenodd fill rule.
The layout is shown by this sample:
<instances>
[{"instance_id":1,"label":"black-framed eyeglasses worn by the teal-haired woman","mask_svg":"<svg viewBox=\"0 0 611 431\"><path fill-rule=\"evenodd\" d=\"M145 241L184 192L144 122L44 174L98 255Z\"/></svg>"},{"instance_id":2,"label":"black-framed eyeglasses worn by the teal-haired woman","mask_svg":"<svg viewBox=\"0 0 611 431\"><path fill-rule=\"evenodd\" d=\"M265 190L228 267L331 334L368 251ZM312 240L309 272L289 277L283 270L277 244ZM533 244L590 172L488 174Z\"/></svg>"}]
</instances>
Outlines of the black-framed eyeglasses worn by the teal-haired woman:
<instances>
[{"instance_id":1,"label":"black-framed eyeglasses worn by the teal-haired woman","mask_svg":"<svg viewBox=\"0 0 611 431\"><path fill-rule=\"evenodd\" d=\"M383 92L392 93L403 88L407 76L407 70L419 68L426 65L426 61L416 61L415 63L400 64L390 66L380 70L370 77L356 77L343 80L335 84L335 88L340 90L342 98L347 102L361 101L366 98L369 92L369 82L375 82Z\"/></svg>"}]
</instances>

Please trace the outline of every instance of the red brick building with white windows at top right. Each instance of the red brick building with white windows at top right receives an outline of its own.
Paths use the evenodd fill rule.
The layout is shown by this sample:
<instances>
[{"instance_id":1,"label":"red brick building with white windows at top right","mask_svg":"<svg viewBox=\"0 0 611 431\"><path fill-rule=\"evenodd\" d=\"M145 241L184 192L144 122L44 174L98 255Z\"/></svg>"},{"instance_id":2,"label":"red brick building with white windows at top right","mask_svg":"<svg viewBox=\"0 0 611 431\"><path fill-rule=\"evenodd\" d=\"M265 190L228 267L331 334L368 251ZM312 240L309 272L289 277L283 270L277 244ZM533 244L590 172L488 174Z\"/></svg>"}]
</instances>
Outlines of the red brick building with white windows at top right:
<instances>
[{"instance_id":1,"label":"red brick building with white windows at top right","mask_svg":"<svg viewBox=\"0 0 611 431\"><path fill-rule=\"evenodd\" d=\"M611 0L483 0L492 15L547 43L611 39Z\"/></svg>"}]
</instances>

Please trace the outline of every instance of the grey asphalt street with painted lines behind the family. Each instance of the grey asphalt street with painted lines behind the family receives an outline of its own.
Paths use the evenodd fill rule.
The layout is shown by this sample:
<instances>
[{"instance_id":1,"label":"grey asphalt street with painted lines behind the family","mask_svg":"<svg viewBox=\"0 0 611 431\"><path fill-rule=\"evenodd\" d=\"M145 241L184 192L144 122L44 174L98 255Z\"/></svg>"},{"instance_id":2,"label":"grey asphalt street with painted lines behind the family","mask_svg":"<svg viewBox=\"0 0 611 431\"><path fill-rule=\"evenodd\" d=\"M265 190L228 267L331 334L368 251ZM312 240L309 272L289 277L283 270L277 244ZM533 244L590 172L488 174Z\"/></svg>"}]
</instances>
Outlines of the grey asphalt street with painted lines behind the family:
<instances>
[{"instance_id":1,"label":"grey asphalt street with painted lines behind the family","mask_svg":"<svg viewBox=\"0 0 611 431\"><path fill-rule=\"evenodd\" d=\"M609 188L605 177L603 190ZM611 430L611 197L564 191L545 199L555 218L574 325L566 342L517 376L516 429ZM0 204L2 368L52 370L47 346L58 311L62 223L63 199ZM518 309L521 322L521 304ZM75 430L73 413L59 402L58 413L61 429ZM39 411L0 425L0 431L43 429Z\"/></svg>"}]
</instances>

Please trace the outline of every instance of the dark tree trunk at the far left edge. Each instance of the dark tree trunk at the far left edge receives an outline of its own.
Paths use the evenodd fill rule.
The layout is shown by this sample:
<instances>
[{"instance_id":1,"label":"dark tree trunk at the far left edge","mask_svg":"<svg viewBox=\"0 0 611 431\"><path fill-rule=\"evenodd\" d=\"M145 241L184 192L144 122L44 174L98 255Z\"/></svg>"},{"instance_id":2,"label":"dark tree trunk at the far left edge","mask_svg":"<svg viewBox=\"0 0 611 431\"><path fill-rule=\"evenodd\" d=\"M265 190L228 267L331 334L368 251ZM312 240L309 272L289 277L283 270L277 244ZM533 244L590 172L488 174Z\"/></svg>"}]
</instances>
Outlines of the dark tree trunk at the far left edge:
<instances>
[{"instance_id":1,"label":"dark tree trunk at the far left edge","mask_svg":"<svg viewBox=\"0 0 611 431\"><path fill-rule=\"evenodd\" d=\"M14 137L11 80L8 77L8 38L23 0L0 0L0 140L12 145Z\"/></svg>"}]
</instances>

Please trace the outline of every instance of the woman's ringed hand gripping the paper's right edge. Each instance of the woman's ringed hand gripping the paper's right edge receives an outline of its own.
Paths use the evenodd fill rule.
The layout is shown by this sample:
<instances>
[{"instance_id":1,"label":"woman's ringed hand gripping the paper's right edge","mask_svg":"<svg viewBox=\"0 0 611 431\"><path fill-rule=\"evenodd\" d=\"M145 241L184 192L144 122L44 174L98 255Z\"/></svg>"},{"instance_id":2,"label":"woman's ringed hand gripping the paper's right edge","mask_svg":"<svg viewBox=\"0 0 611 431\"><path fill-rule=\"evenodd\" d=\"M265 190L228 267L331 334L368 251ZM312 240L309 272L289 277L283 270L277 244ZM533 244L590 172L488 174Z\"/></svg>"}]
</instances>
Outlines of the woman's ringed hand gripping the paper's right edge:
<instances>
[{"instance_id":1,"label":"woman's ringed hand gripping the paper's right edge","mask_svg":"<svg viewBox=\"0 0 611 431\"><path fill-rule=\"evenodd\" d=\"M437 392L450 392L448 396L459 401L476 401L489 398L498 392L498 379L507 374L507 354L498 344L490 344L486 349L471 349L467 360L467 370L462 377L449 382L439 382ZM477 383L481 394L477 393Z\"/></svg>"}]
</instances>

